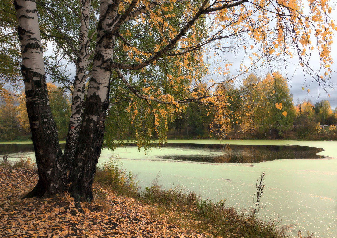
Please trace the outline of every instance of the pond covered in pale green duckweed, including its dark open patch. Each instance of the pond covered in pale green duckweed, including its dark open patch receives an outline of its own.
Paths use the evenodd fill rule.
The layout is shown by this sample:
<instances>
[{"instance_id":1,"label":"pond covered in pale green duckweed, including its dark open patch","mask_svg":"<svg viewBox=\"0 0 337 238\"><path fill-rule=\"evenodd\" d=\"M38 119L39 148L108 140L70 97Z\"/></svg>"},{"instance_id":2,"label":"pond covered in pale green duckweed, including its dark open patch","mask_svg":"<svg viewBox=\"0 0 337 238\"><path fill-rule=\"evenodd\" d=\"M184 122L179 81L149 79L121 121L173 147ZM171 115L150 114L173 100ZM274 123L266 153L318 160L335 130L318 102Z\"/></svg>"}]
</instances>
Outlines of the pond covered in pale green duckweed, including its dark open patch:
<instances>
[{"instance_id":1,"label":"pond covered in pale green duckweed, including its dark open patch","mask_svg":"<svg viewBox=\"0 0 337 238\"><path fill-rule=\"evenodd\" d=\"M99 163L118 158L124 168L137 175L143 189L158 178L165 188L179 186L204 199L226 199L227 205L238 209L253 206L256 180L266 171L258 213L262 219L274 218L280 225L296 224L295 230L302 234L309 231L316 237L337 238L337 142L169 142L168 146L148 151L136 147L103 149ZM0 154L4 153L2 146ZM34 157L28 149L22 152ZM16 158L20 153L9 157ZM295 233L293 236L297 237Z\"/></svg>"}]
</instances>

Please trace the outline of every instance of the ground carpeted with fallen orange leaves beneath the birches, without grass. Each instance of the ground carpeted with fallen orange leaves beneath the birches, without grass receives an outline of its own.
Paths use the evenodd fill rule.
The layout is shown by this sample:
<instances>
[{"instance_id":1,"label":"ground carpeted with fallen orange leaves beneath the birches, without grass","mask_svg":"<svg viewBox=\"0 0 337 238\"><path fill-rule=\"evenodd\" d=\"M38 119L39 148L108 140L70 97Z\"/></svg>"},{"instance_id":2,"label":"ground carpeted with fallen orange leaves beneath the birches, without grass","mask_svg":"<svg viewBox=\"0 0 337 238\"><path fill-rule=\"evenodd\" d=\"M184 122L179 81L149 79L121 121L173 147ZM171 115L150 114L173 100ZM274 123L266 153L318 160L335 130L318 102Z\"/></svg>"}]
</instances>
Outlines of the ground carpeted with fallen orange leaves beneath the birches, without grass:
<instances>
[{"instance_id":1,"label":"ground carpeted with fallen orange leaves beneath the birches, without grass","mask_svg":"<svg viewBox=\"0 0 337 238\"><path fill-rule=\"evenodd\" d=\"M170 223L170 213L94 184L92 203L78 212L69 194L22 199L37 172L0 166L0 237L210 237ZM160 210L160 209L159 209ZM166 214L166 215L165 215ZM197 221L184 220L186 224ZM191 224L195 227L195 224Z\"/></svg>"}]
</instances>

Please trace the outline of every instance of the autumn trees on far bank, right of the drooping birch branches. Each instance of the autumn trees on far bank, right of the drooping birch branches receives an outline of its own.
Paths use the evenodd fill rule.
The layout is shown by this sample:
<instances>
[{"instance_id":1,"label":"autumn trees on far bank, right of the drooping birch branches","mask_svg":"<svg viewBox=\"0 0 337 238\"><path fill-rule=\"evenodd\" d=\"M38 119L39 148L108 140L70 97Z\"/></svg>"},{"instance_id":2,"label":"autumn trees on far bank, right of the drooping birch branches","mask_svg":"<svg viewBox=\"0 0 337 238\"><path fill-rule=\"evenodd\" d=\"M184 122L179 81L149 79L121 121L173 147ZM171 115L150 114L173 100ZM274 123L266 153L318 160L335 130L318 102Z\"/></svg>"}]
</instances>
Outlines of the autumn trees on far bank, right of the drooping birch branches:
<instances>
[{"instance_id":1,"label":"autumn trees on far bank, right of the drooping birch branches","mask_svg":"<svg viewBox=\"0 0 337 238\"><path fill-rule=\"evenodd\" d=\"M189 103L169 124L168 137L181 138L305 138L335 134L337 110L328 100L294 103L287 80L279 72L257 77L250 74L236 87L221 85L215 105ZM223 96L225 95L225 96Z\"/></svg>"}]
</instances>

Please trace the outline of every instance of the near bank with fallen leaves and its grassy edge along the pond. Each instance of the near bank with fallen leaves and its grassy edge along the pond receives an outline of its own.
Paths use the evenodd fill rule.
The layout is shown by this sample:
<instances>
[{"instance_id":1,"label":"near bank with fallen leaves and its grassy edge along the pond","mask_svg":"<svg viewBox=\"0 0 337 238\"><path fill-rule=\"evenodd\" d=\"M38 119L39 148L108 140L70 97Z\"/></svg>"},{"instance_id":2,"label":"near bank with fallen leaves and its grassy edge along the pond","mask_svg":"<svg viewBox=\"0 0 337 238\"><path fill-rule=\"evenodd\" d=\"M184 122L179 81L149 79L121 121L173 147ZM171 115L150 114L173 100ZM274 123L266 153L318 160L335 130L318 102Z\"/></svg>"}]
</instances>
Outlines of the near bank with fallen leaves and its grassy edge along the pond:
<instances>
[{"instance_id":1,"label":"near bank with fallen leaves and its grassy edge along the pond","mask_svg":"<svg viewBox=\"0 0 337 238\"><path fill-rule=\"evenodd\" d=\"M4 238L33 234L38 237L285 238L282 230L276 230L275 221L265 222L238 213L233 208L225 208L224 203L207 200L204 203L195 193L191 194L196 200L191 200L191 194L150 188L145 196L133 198L131 193L123 195L118 187L114 191L111 185L96 181L93 184L95 199L81 203L83 214L76 210L69 193L22 199L36 183L36 171L3 164L0 171L3 181L0 214L4 217L0 226ZM104 175L99 178L104 179Z\"/></svg>"}]
</instances>

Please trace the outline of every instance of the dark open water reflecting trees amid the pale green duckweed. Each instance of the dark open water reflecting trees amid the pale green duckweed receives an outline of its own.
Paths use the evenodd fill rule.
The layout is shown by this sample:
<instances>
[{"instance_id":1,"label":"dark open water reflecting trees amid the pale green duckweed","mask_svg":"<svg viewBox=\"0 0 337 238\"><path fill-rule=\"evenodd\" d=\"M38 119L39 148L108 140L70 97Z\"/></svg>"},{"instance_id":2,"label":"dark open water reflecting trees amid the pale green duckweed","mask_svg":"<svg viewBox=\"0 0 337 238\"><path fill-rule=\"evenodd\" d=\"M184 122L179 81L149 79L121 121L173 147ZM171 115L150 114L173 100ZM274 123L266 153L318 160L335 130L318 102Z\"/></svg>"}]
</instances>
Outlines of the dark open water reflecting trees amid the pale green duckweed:
<instances>
[{"instance_id":1,"label":"dark open water reflecting trees amid the pale green duckweed","mask_svg":"<svg viewBox=\"0 0 337 238\"><path fill-rule=\"evenodd\" d=\"M65 144L61 143L64 149ZM129 144L128 146L135 146ZM163 159L185 160L195 162L212 163L257 163L278 159L308 159L323 158L316 155L323 151L321 148L306 146L261 146L261 145L219 145L219 144L195 144L195 143L167 143L162 147L174 147L181 149L204 149L211 152L210 155L167 155L161 156ZM20 154L33 152L33 144L0 144L0 155L2 154ZM221 155L219 156L219 153Z\"/></svg>"}]
</instances>

